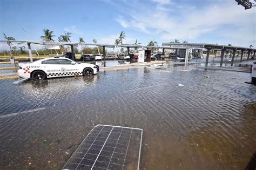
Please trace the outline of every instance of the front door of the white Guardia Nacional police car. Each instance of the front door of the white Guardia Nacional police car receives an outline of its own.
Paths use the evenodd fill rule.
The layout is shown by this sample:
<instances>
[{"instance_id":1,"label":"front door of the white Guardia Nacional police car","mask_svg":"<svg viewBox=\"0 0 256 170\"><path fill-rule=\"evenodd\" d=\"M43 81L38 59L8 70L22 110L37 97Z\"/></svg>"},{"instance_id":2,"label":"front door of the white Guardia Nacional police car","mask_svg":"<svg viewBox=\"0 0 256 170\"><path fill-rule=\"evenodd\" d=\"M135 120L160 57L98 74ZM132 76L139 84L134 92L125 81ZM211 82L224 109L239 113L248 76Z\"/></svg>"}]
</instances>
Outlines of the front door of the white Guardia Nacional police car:
<instances>
[{"instance_id":1,"label":"front door of the white Guardia Nacional police car","mask_svg":"<svg viewBox=\"0 0 256 170\"><path fill-rule=\"evenodd\" d=\"M58 63L60 65L62 76L75 76L76 74L79 74L77 63L65 58L59 58Z\"/></svg>"}]
</instances>

